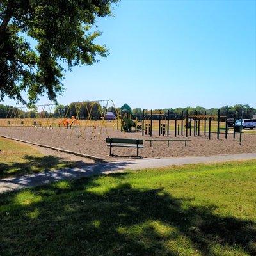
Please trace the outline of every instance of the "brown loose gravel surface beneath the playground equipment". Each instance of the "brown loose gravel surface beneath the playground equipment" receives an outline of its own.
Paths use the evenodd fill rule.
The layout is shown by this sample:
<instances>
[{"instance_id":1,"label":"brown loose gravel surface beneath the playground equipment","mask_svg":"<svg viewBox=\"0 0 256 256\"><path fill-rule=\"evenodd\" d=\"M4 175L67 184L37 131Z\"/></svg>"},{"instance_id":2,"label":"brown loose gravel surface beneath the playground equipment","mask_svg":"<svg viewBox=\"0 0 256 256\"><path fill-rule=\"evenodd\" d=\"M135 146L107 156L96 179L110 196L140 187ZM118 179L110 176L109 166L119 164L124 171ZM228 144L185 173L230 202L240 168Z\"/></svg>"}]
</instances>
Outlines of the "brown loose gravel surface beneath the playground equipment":
<instances>
[{"instance_id":1,"label":"brown loose gravel surface beneath the playground equipment","mask_svg":"<svg viewBox=\"0 0 256 256\"><path fill-rule=\"evenodd\" d=\"M99 129L93 133L90 128L84 132L79 128L75 129L58 129L58 128L35 128L35 127L0 127L0 135L10 136L20 140L26 140L33 143L40 143L52 147L64 148L75 152L81 152L92 156L100 157L106 160L127 159L136 157L136 148L113 148L114 157L109 156L109 147L106 145L106 137L111 138L141 138L143 140L150 139L149 136L141 136L141 132L126 133L120 131L112 131L108 129L102 132L99 139ZM193 132L192 132L193 135ZM93 138L96 136L95 138ZM220 140L217 140L216 133L212 133L211 140L204 134L200 136L188 136L187 147L184 141L172 141L170 147L167 147L167 141L154 141L153 147L150 147L148 141L143 141L145 147L140 149L140 156L143 158L154 157L180 157L180 156L212 156L216 154L236 154L256 152L256 135L243 134L243 145L239 145L239 134L233 139L233 134L220 134ZM166 136L158 136L154 131L152 138L166 139ZM175 139L173 132L170 132L170 139ZM186 138L177 136L177 139Z\"/></svg>"}]
</instances>

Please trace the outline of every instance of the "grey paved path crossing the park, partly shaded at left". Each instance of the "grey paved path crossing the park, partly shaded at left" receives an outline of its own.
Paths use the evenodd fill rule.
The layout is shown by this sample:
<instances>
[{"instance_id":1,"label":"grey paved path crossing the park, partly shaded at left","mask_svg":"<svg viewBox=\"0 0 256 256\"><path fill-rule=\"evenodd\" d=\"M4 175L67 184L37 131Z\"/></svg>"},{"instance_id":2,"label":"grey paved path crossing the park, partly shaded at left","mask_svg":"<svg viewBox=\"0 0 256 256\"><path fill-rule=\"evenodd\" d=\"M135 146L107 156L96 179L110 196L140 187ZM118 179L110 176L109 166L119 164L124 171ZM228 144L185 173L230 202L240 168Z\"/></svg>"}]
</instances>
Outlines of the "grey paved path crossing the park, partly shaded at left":
<instances>
[{"instance_id":1,"label":"grey paved path crossing the park, partly shaded at left","mask_svg":"<svg viewBox=\"0 0 256 256\"><path fill-rule=\"evenodd\" d=\"M218 156L173 157L159 159L135 159L127 161L113 161L88 164L86 168L70 168L52 172L42 172L34 175L24 175L15 178L0 179L0 193L13 189L39 186L63 179L79 179L89 175L123 172L125 169L138 170L143 168L157 168L182 164L220 163L225 161L256 159L256 153L243 153Z\"/></svg>"}]
</instances>

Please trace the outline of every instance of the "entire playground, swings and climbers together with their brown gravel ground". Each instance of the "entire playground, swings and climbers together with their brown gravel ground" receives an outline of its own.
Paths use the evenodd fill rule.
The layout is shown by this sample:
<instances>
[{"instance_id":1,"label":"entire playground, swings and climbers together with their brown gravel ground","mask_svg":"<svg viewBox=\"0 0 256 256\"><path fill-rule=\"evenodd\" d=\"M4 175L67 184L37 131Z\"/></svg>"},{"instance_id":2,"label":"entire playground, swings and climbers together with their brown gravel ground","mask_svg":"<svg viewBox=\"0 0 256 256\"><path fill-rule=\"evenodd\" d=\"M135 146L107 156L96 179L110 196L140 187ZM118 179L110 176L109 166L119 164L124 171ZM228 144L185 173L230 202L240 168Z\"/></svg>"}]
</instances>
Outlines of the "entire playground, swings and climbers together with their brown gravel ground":
<instances>
[{"instance_id":1,"label":"entire playground, swings and climbers together with their brown gravel ground","mask_svg":"<svg viewBox=\"0 0 256 256\"><path fill-rule=\"evenodd\" d=\"M143 110L138 120L128 104L116 108L113 100L77 102L67 109L54 104L24 108L10 109L0 120L1 135L104 160L136 157L136 145L126 145L128 139L141 141L141 148L137 148L141 158L256 152L255 129L245 133L238 127L237 132L236 118L227 111L173 115L170 111ZM121 141L111 156L107 138Z\"/></svg>"}]
</instances>

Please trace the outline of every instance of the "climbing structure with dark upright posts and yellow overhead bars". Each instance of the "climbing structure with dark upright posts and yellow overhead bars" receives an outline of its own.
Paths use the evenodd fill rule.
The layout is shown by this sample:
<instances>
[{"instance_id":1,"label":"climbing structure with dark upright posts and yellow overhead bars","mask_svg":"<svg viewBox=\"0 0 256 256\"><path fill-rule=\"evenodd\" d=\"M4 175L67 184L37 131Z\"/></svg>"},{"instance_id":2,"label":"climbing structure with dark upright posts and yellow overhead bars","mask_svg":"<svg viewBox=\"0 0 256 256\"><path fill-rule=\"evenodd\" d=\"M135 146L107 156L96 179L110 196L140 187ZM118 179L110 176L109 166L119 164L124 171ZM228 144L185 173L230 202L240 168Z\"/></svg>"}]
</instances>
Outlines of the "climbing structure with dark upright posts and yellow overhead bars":
<instances>
[{"instance_id":1,"label":"climbing structure with dark upright posts and yellow overhead bars","mask_svg":"<svg viewBox=\"0 0 256 256\"><path fill-rule=\"evenodd\" d=\"M174 130L174 136L207 136L211 140L212 133L217 134L217 138L220 139L221 131L224 131L225 139L228 138L228 129L232 122L233 138L236 138L236 132L240 132L241 129L235 129L236 118L229 115L228 111L225 111L225 115L220 115L220 109L217 115L207 115L207 111L204 113L198 113L198 111L182 111L179 115L170 114L170 111L147 111L143 109L142 118L142 136L157 135L158 136L170 136L170 131ZM213 125L213 122L215 124ZM225 127L220 127L220 124L224 124ZM172 130L172 131L173 131ZM214 131L212 131L214 130ZM155 131L155 132L154 132ZM193 131L193 134L192 134ZM241 137L241 136L240 136Z\"/></svg>"}]
</instances>

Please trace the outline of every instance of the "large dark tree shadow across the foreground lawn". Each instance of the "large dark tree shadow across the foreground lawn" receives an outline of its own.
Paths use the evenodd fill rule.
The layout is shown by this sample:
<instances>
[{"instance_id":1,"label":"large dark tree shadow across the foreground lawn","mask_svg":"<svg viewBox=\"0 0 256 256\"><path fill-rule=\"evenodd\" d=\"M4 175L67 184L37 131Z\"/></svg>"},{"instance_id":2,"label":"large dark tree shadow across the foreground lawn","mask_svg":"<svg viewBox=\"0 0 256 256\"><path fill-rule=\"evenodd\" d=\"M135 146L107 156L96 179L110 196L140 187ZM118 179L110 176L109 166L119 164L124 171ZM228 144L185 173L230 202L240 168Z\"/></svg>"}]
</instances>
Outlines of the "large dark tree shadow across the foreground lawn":
<instances>
[{"instance_id":1,"label":"large dark tree shadow across the foreground lawn","mask_svg":"<svg viewBox=\"0 0 256 256\"><path fill-rule=\"evenodd\" d=\"M184 207L191 198L132 188L125 175L109 175L107 191L98 176L4 195L1 255L255 255L252 221L217 216L216 205Z\"/></svg>"}]
</instances>

